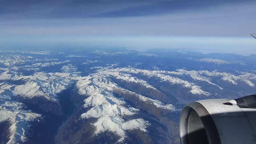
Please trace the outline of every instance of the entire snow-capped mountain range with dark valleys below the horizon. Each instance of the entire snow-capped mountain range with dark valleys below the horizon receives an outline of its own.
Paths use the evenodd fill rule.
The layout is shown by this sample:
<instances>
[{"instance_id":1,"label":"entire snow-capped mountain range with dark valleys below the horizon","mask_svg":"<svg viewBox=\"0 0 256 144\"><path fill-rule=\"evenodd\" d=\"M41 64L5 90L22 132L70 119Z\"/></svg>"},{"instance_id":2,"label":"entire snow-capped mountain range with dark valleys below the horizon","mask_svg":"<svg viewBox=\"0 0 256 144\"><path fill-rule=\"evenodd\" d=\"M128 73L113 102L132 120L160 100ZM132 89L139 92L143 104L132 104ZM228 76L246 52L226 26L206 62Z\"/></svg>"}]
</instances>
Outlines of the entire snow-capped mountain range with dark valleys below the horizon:
<instances>
[{"instance_id":1,"label":"entire snow-capped mountain range with dark valleys below the horizon","mask_svg":"<svg viewBox=\"0 0 256 144\"><path fill-rule=\"evenodd\" d=\"M185 104L256 93L254 55L165 54L1 51L0 143L178 144Z\"/></svg>"}]
</instances>

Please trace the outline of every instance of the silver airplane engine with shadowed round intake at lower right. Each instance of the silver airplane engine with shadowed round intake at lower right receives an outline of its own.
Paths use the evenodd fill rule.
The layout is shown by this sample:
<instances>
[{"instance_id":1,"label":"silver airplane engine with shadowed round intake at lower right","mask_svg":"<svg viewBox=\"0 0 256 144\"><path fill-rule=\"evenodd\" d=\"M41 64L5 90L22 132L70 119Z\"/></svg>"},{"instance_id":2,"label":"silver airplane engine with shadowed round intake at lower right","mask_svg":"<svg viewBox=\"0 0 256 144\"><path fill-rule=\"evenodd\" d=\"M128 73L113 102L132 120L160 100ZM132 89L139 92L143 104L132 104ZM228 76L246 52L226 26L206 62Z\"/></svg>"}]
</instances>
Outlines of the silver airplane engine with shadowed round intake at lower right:
<instances>
[{"instance_id":1,"label":"silver airplane engine with shadowed round intake at lower right","mask_svg":"<svg viewBox=\"0 0 256 144\"><path fill-rule=\"evenodd\" d=\"M256 95L186 105L180 138L181 144L256 144Z\"/></svg>"}]
</instances>

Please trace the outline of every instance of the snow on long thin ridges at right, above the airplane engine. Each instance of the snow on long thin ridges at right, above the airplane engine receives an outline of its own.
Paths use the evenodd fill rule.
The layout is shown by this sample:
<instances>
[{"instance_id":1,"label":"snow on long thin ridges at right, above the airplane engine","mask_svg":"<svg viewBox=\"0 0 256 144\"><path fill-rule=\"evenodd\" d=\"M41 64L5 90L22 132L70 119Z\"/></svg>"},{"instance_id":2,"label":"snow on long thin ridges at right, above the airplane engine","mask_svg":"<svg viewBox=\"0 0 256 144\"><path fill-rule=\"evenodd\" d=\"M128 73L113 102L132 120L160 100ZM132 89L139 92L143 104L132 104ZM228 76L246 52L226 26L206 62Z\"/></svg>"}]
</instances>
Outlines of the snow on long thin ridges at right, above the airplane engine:
<instances>
[{"instance_id":1,"label":"snow on long thin ridges at right, above the airplane engine","mask_svg":"<svg viewBox=\"0 0 256 144\"><path fill-rule=\"evenodd\" d=\"M248 73L248 72L241 72L240 75L236 76L234 74L227 73L227 72L186 71L182 69L176 70L174 72L169 72L169 71L149 71L149 70L141 70L141 69L134 69L134 68L120 68L120 69L115 69L113 71L136 73L136 74L144 75L148 78L155 77L160 79L161 81L167 81L167 82L170 82L171 84L181 84L184 87L191 88L194 94L204 93L205 95L208 95L209 92L204 90L203 90L204 92L202 92L201 90L200 90L201 92L196 92L199 89L198 87L193 87L193 86L197 86L194 82L184 81L180 78L177 78L177 76L189 75L194 81L208 82L211 85L217 86L220 90L223 90L223 88L221 88L218 84L212 82L211 78L220 77L222 81L228 81L234 85L237 85L238 82L244 82L245 84L251 87L255 86L255 83L253 83L252 81L256 81L256 74Z\"/></svg>"}]
</instances>

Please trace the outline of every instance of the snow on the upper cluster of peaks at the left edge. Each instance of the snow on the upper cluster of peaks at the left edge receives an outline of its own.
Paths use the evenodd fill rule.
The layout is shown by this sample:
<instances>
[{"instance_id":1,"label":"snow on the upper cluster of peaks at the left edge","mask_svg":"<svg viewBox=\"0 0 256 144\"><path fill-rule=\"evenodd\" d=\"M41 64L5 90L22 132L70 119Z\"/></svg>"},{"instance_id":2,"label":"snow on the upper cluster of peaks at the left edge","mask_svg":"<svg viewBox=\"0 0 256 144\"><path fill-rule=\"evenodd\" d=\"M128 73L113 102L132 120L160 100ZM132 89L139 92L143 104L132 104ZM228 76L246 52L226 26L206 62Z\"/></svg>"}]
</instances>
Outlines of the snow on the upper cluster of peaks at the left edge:
<instances>
[{"instance_id":1,"label":"snow on the upper cluster of peaks at the left edge","mask_svg":"<svg viewBox=\"0 0 256 144\"><path fill-rule=\"evenodd\" d=\"M0 94L9 91L12 95L19 95L26 98L42 96L46 99L57 101L57 94L67 89L80 74L71 64L63 66L61 70L63 72L36 72L28 76L3 72L0 74L0 79L24 81L25 83L14 85L2 82L0 83Z\"/></svg>"}]
</instances>

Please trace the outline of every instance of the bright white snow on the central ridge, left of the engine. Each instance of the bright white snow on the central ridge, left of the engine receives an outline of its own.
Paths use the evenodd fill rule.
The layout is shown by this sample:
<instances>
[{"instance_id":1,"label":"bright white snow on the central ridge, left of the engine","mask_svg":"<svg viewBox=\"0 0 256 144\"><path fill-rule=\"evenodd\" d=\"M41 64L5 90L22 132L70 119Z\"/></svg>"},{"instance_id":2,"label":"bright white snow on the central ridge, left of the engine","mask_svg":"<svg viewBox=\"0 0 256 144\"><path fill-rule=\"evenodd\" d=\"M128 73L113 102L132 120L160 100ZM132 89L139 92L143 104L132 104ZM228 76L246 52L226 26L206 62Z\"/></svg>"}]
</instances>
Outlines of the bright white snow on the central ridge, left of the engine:
<instances>
[{"instance_id":1,"label":"bright white snow on the central ridge, left of the engine","mask_svg":"<svg viewBox=\"0 0 256 144\"><path fill-rule=\"evenodd\" d=\"M80 77L77 82L79 93L88 96L84 101L84 107L93 107L83 113L81 117L99 118L96 123L91 124L96 127L94 135L104 131L110 131L119 135L119 142L121 142L126 137L125 130L139 128L146 131L147 122L143 119L132 119L126 122L122 118L123 116L136 114L138 109L128 106L125 107L126 102L116 98L111 92L113 87L117 86L101 74L96 73L87 77Z\"/></svg>"}]
</instances>

